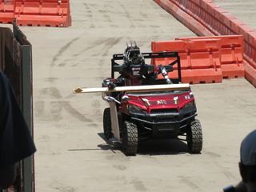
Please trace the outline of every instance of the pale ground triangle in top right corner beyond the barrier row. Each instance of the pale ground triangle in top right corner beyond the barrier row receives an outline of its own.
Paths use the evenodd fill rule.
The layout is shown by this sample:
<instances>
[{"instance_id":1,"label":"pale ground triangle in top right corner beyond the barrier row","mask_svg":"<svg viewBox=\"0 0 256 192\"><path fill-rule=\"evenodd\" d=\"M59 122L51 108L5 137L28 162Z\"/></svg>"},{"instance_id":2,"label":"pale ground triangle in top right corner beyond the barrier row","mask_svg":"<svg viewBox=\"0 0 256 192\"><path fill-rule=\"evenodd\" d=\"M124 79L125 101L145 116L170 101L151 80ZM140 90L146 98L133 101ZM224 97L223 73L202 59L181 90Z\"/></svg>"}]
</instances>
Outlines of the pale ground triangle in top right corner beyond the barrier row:
<instances>
[{"instance_id":1,"label":"pale ground triangle in top right corner beyond the barrier row","mask_svg":"<svg viewBox=\"0 0 256 192\"><path fill-rule=\"evenodd\" d=\"M214 0L214 2L230 14L234 14L240 21L256 28L256 2L254 0Z\"/></svg>"}]
</instances>

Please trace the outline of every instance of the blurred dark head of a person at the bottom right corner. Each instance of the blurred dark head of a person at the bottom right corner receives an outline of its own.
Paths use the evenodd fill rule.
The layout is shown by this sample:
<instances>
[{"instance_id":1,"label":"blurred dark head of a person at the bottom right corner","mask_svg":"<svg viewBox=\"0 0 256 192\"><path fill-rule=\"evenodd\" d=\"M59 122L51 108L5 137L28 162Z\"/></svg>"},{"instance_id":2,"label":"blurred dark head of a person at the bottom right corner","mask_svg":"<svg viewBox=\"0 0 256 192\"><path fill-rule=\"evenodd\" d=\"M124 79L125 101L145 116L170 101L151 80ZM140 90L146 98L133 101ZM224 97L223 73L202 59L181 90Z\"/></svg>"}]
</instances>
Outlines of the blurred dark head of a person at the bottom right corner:
<instances>
[{"instance_id":1,"label":"blurred dark head of a person at the bottom right corner","mask_svg":"<svg viewBox=\"0 0 256 192\"><path fill-rule=\"evenodd\" d=\"M239 169L242 181L246 183L248 191L256 191L256 130L243 139L240 158Z\"/></svg>"}]
</instances>

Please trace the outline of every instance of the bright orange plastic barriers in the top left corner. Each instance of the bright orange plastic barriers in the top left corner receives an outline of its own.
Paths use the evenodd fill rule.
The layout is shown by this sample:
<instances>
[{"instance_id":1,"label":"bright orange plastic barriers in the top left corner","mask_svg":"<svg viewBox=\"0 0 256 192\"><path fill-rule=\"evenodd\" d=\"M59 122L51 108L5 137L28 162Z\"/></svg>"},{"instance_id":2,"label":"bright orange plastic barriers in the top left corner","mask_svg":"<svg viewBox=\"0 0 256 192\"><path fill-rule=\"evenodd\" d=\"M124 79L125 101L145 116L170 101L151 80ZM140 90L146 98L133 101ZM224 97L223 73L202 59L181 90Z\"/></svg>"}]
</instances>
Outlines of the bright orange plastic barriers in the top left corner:
<instances>
[{"instance_id":1,"label":"bright orange plastic barriers in the top left corner","mask_svg":"<svg viewBox=\"0 0 256 192\"><path fill-rule=\"evenodd\" d=\"M70 26L69 0L0 0L0 22L19 26ZM8 9L7 9L8 8Z\"/></svg>"}]
</instances>

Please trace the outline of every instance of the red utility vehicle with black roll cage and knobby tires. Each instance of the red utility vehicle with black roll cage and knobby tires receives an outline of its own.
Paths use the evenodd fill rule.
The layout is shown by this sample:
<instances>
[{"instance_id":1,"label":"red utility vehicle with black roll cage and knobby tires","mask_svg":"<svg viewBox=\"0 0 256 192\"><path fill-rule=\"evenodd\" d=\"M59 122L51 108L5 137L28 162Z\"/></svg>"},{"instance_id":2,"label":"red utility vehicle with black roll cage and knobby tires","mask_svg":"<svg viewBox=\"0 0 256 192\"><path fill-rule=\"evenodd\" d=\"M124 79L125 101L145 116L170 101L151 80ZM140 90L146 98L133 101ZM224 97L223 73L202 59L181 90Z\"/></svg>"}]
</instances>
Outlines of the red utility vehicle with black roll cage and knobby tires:
<instances>
[{"instance_id":1,"label":"red utility vehicle with black roll cage and knobby tires","mask_svg":"<svg viewBox=\"0 0 256 192\"><path fill-rule=\"evenodd\" d=\"M117 133L114 129L118 129L119 135L115 135L115 138L122 142L122 151L126 155L134 155L138 150L138 141L154 138L178 138L179 135L184 135L190 153L200 153L202 150L202 128L200 122L195 118L197 108L190 86L179 88L183 84L181 83L182 75L178 53L138 52L143 61L146 58L171 58L172 62L169 66L146 65L143 61L142 63L130 63L130 65L127 62L122 64L116 62L118 60L126 61L126 57L129 57L130 54L127 54L126 51L125 54L113 55L111 78L106 79L102 85L109 87L109 90L116 90L119 86L138 86L138 82L140 82L141 87L152 86L152 90L140 90L137 93L136 90L105 92L102 98L107 102L114 103L112 109L110 104L110 108L104 110L105 137L113 138L114 132ZM177 65L175 70L174 65ZM178 78L168 78L167 74L170 71L176 71ZM114 78L115 72L119 72L121 75ZM134 78L134 75L130 74L137 74L140 78ZM162 74L164 78L158 79L158 74ZM154 85L163 84L176 85L177 88L154 90ZM115 128L112 125L114 119L118 122Z\"/></svg>"}]
</instances>

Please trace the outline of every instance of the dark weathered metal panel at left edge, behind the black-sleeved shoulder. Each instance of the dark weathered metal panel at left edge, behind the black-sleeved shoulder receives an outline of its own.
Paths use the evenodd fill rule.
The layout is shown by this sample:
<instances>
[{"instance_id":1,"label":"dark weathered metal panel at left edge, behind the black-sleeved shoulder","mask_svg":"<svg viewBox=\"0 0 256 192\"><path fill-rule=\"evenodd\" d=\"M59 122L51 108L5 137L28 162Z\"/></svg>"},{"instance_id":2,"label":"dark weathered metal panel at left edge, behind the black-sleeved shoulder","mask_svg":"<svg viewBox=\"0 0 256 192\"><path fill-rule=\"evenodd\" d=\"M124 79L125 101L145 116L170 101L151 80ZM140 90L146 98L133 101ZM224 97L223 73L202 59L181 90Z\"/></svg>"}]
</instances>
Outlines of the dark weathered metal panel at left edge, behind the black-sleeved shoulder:
<instances>
[{"instance_id":1,"label":"dark weathered metal panel at left edge, behind the black-sleeved shoulder","mask_svg":"<svg viewBox=\"0 0 256 192\"><path fill-rule=\"evenodd\" d=\"M32 46L26 36L19 30L16 20L13 22L13 33L9 28L4 28L8 39L6 46L10 52L9 60L3 59L3 65L8 66L10 81L18 97L24 118L33 135L33 100L32 100ZM5 54L4 52L2 54ZM14 68L12 68L14 67ZM34 156L19 162L17 185L14 189L3 191L34 192ZM2 191L0 189L0 191Z\"/></svg>"}]
</instances>

